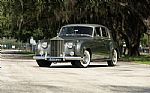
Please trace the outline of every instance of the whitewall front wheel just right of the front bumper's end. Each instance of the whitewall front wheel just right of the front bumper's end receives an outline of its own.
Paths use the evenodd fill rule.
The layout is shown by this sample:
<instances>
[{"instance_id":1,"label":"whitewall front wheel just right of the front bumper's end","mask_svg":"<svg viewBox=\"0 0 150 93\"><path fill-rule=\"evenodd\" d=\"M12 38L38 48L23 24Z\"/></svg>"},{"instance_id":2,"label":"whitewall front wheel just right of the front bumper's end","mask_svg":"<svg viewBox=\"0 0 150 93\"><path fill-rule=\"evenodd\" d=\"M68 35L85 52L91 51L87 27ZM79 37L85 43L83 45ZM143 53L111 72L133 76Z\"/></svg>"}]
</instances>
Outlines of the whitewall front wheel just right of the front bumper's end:
<instances>
[{"instance_id":1,"label":"whitewall front wheel just right of the front bumper's end","mask_svg":"<svg viewBox=\"0 0 150 93\"><path fill-rule=\"evenodd\" d=\"M89 51L85 50L83 60L75 61L73 65L75 65L76 67L87 67L90 64L90 61L91 61L90 53Z\"/></svg>"}]
</instances>

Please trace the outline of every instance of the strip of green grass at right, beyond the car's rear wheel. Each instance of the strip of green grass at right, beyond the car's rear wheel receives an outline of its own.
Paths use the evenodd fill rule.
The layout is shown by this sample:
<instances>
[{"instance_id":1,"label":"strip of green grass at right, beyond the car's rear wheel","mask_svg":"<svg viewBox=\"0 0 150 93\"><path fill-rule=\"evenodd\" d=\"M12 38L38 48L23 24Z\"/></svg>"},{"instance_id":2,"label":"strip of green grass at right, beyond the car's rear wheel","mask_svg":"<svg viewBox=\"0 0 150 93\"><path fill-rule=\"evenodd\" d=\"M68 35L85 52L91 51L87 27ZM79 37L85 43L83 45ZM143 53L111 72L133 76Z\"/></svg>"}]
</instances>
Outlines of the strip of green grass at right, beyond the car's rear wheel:
<instances>
[{"instance_id":1,"label":"strip of green grass at right, beyond the car's rear wheel","mask_svg":"<svg viewBox=\"0 0 150 93\"><path fill-rule=\"evenodd\" d=\"M150 55L140 55L140 56L135 56L135 57L126 56L126 57L121 58L121 60L150 65Z\"/></svg>"}]
</instances>

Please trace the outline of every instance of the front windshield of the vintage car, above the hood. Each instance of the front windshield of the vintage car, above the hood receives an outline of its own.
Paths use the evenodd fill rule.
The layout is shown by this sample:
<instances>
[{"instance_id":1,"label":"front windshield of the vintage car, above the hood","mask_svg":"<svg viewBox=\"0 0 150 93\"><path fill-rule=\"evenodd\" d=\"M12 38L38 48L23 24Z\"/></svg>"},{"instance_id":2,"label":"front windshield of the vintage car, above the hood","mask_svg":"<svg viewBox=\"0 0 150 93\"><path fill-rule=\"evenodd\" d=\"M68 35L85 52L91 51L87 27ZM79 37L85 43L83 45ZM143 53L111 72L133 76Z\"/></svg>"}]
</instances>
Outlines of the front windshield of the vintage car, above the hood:
<instances>
[{"instance_id":1,"label":"front windshield of the vintage car, above the hood","mask_svg":"<svg viewBox=\"0 0 150 93\"><path fill-rule=\"evenodd\" d=\"M93 28L85 26L63 27L60 36L92 36Z\"/></svg>"}]
</instances>

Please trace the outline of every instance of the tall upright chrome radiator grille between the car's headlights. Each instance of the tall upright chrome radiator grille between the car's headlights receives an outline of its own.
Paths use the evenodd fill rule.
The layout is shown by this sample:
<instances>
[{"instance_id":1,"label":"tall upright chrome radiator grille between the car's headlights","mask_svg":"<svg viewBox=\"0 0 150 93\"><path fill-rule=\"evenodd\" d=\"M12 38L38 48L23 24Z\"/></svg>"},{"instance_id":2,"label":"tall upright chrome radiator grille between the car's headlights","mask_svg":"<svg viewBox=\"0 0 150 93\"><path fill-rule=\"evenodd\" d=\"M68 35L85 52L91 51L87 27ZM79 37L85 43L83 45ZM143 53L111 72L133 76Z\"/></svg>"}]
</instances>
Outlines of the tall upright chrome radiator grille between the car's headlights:
<instances>
[{"instance_id":1,"label":"tall upright chrome radiator grille between the car's headlights","mask_svg":"<svg viewBox=\"0 0 150 93\"><path fill-rule=\"evenodd\" d=\"M54 37L51 39L50 55L59 57L63 55L64 52L64 39L60 37Z\"/></svg>"}]
</instances>

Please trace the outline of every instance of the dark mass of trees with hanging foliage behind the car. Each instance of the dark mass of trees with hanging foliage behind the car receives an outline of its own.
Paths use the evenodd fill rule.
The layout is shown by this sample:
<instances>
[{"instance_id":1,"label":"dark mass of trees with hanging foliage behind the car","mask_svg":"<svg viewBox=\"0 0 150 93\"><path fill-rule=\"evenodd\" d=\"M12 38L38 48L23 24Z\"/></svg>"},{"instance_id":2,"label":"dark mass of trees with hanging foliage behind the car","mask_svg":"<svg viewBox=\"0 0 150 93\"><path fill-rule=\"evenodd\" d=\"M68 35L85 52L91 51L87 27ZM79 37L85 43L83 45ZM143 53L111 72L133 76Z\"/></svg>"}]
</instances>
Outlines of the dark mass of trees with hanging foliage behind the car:
<instances>
[{"instance_id":1,"label":"dark mass of trees with hanging foliage behind the car","mask_svg":"<svg viewBox=\"0 0 150 93\"><path fill-rule=\"evenodd\" d=\"M27 42L52 38L65 24L107 26L114 40L126 42L128 55L139 55L140 38L147 31L149 0L1 0L0 38Z\"/></svg>"}]
</instances>

